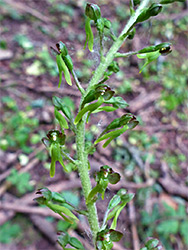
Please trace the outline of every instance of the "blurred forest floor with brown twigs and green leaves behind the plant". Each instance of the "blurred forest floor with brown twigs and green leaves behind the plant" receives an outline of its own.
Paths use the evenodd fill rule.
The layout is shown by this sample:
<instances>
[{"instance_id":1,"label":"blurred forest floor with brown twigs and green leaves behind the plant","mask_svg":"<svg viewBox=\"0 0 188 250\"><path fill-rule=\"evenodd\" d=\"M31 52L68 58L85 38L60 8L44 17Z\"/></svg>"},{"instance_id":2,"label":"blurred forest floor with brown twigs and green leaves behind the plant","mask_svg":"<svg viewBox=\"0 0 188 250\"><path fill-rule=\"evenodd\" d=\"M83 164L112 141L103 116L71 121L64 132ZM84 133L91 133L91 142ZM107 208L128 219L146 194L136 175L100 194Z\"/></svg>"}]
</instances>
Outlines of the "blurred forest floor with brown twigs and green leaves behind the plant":
<instances>
[{"instance_id":1,"label":"blurred forest floor with brown twigs and green leaves behind the plant","mask_svg":"<svg viewBox=\"0 0 188 250\"><path fill-rule=\"evenodd\" d=\"M129 1L93 1L112 21L118 34L130 16ZM50 46L63 41L73 59L78 78L86 87L99 63L99 42L94 52L83 50L86 1L0 0L0 249L52 250L58 231L78 237L92 249L87 221L70 225L48 208L33 201L38 188L61 192L83 207L76 172L65 174L58 166L49 177L50 158L42 145L47 131L57 128L52 96L77 110L76 87L58 85L58 70ZM185 3L166 5L156 18L137 25L133 40L121 52L150 44L172 43L172 53L160 56L141 74L143 60L132 56L117 60L120 71L108 84L128 103L139 126L91 157L91 176L102 165L121 173L120 184L110 186L98 201L99 218L121 187L136 194L123 210L118 230L124 233L114 249L138 250L148 237L160 239L167 250L188 248L188 9ZM112 41L105 39L108 49ZM93 141L106 122L122 115L99 113L88 124ZM92 125L91 125L92 124ZM75 141L67 132L67 152L75 155ZM93 182L94 184L95 182ZM95 184L94 184L95 185Z\"/></svg>"}]
</instances>

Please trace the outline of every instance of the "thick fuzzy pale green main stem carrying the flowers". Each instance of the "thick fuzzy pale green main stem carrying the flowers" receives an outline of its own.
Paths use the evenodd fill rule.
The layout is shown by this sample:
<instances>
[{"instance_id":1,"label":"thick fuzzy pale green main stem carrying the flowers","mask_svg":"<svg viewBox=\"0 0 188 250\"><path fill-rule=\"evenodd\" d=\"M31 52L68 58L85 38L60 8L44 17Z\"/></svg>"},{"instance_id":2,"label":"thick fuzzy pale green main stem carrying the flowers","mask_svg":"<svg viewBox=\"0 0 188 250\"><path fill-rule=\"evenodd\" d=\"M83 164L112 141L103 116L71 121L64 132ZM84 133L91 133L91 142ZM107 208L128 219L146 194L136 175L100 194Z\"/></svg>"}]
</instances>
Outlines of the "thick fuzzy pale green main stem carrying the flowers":
<instances>
[{"instance_id":1,"label":"thick fuzzy pale green main stem carrying the flowers","mask_svg":"<svg viewBox=\"0 0 188 250\"><path fill-rule=\"evenodd\" d=\"M150 2L150 0L143 0L143 2L140 4L139 8L136 10L135 14L130 18L129 22L127 25L124 27L122 30L121 34L117 38L117 40L113 43L112 47L110 48L109 52L107 53L106 57L103 58L101 61L100 65L96 69L89 86L84 93L84 95L81 98L80 102L80 108L81 108L81 103L83 100L83 97L91 90L91 88L97 84L100 79L103 77L104 72L106 71L107 67L110 65L110 63L113 61L117 51L123 44L123 42L126 40L128 36L128 32L133 28L137 17L140 15L141 11L143 8L147 6L147 4ZM77 86L80 90L81 86ZM91 191L91 180L89 177L89 170L88 170L88 156L85 153L85 117L82 118L81 121L78 122L77 128L76 128L76 146L77 146L77 158L78 161L80 162L78 164L78 172L80 174L80 179L82 183L82 188L83 188L83 193L85 199L87 199L90 191ZM95 245L95 239L97 232L99 231L99 222L98 222L98 216L97 216L97 210L95 204L89 203L87 205L88 209L88 221L89 225L92 231L93 235L93 242Z\"/></svg>"}]
</instances>

